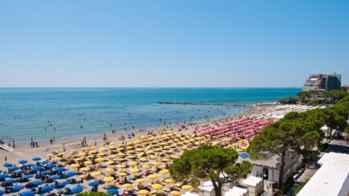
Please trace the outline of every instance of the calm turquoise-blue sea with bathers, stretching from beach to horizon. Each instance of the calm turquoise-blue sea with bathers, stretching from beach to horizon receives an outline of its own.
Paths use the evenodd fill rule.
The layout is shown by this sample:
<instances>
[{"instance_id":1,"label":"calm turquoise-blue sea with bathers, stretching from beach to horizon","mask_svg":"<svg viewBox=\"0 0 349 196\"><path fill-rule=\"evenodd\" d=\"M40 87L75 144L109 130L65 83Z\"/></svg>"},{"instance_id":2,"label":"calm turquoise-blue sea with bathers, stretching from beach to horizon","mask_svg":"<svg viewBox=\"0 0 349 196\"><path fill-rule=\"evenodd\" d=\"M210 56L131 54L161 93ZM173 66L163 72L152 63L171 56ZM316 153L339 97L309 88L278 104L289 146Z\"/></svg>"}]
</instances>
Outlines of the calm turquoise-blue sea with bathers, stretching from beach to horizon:
<instances>
[{"instance_id":1,"label":"calm turquoise-blue sea with bathers, stretching from beach to horizon","mask_svg":"<svg viewBox=\"0 0 349 196\"><path fill-rule=\"evenodd\" d=\"M296 96L301 88L0 88L0 138L16 145L169 128L246 112L246 106ZM12 143L12 142L11 142Z\"/></svg>"}]
</instances>

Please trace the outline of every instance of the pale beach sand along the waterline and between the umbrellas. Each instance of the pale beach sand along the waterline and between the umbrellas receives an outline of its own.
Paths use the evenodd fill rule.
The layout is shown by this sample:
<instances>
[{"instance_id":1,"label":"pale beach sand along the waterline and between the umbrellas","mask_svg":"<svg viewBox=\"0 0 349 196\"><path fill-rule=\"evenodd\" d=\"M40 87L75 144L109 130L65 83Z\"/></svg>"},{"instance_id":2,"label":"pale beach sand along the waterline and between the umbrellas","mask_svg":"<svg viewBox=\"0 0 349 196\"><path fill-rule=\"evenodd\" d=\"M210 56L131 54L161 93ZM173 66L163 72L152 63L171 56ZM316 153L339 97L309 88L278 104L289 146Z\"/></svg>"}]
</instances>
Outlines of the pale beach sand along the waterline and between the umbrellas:
<instances>
[{"instance_id":1,"label":"pale beach sand along the waterline and between the umbrellas","mask_svg":"<svg viewBox=\"0 0 349 196\"><path fill-rule=\"evenodd\" d=\"M273 105L254 105L250 108L250 110L248 110L247 112L245 112L243 115L240 116L232 116L232 117L227 117L227 118L222 118L222 119L216 119L216 120L210 120L210 121L205 121L205 122L200 122L200 123L196 123L193 126L189 126L188 124L186 125L187 129L182 129L182 131L187 134L190 133L192 131L195 130L195 127L199 126L203 126L203 125L207 125L209 124L216 124L218 123L223 123L223 122L227 122L227 121L233 121L239 118L246 118L250 115L253 114L266 114L266 113L270 113L270 112L274 112L274 106ZM173 133L176 133L177 130L180 128L180 126L172 126L170 128L166 128L166 130L170 130L173 129ZM155 130L155 128L153 129L147 129L147 131L142 131L139 132L137 131L133 131L133 133L135 134L135 137L140 137L140 136L147 136L148 131L152 131L153 133L160 135L158 133L158 130L163 130L165 129L165 127L162 128L157 128L157 130ZM115 146L118 146L119 144L119 136L120 135L125 135L125 137L127 138L128 134L131 134L132 131L128 131L125 133L116 133L116 134L111 134L111 133L106 133L107 139L110 140L111 142L115 142ZM30 134L28 134L28 137L30 137ZM149 137L149 136L148 136ZM75 138L75 136L74 136ZM12 164L16 164L17 166L20 165L18 164L19 160L28 160L28 163L34 163L35 161L32 161L33 157L40 157L42 159L47 159L48 157L46 157L46 154L52 153L53 151L62 151L63 150L63 143L64 146L66 148L66 154L65 156L69 155L70 151L75 149L78 150L79 152L81 152L82 146L81 146L81 141L84 138L83 135L81 135L81 140L72 140L72 141L55 141L53 144L39 144L38 148L31 148L30 144L28 144L28 146L16 146L16 152L8 152L5 151L3 149L0 149L0 163L2 163L0 165L0 170L6 171L7 168L3 167L3 163L5 163L5 157L7 157L7 162L8 163L12 163ZM104 144L103 141L103 134L101 134L101 136L99 137L87 137L87 147L89 148L90 146L94 146L95 142L97 143L98 148L96 150L98 150L99 148L101 148ZM131 142L133 142L133 140L131 140ZM49 143L49 141L47 141L47 143ZM121 143L121 142L120 142ZM108 147L109 145L105 144L105 147ZM49 149L47 151L44 151L44 149ZM179 148L180 149L180 148ZM183 152L183 151L182 151ZM106 151L106 154L109 153L109 151ZM158 153L156 153L158 154ZM108 158L105 156L105 159L107 160ZM150 160L150 159L149 159ZM124 162L123 164L126 164L131 161L131 160L127 160L127 162ZM151 160L150 160L151 161ZM157 161L161 162L161 158L159 158ZM64 162L59 162L61 164L64 165ZM105 162L103 162L105 165ZM143 164L143 163L142 163ZM150 164L149 162L145 162L144 164ZM165 167L165 163L161 162L161 166L159 166L161 169L163 169ZM67 169L69 170L74 170L72 167L70 167L69 165L66 166ZM105 168L103 168L102 170L104 171ZM101 169L100 169L101 170ZM142 170L142 168L141 168ZM128 171L128 168L124 168L124 171ZM166 178L169 178L170 174L165 174ZM74 178L76 180L80 180L80 176L79 175L75 175ZM146 182L142 183L144 184L144 186L146 186L148 183L151 182L151 180L149 180L146 176L143 177L144 179L147 179ZM159 174L159 177L157 179L162 179L163 175ZM102 176L97 176L97 179L103 179ZM59 180L62 181L62 180ZM93 180L90 180L93 181ZM84 186L84 190L83 191L88 191L91 187L88 186L88 182L87 180L84 180L84 182L82 183L82 185ZM104 184L105 185L105 184ZM137 187L137 183L133 184L133 187ZM165 187L168 187L168 184L164 184ZM75 185L73 184L68 184L66 187L74 187ZM105 189L102 189L103 185L100 185L98 188L98 191L106 191ZM119 188L119 193L122 193L124 191L125 188L122 188L120 185L118 186ZM54 190L53 192L55 192L56 190ZM20 191L20 192L23 192Z\"/></svg>"}]
</instances>

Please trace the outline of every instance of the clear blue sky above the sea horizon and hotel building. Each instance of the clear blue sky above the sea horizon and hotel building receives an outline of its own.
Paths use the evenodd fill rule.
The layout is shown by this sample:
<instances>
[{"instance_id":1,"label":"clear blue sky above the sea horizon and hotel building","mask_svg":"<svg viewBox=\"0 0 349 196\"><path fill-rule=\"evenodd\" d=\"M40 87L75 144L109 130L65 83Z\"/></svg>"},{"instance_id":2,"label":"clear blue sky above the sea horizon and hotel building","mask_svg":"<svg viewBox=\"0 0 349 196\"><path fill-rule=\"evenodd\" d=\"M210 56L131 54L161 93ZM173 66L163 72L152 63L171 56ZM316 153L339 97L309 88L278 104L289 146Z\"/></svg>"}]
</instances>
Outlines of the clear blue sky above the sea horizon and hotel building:
<instances>
[{"instance_id":1,"label":"clear blue sky above the sea horizon and hotel building","mask_svg":"<svg viewBox=\"0 0 349 196\"><path fill-rule=\"evenodd\" d=\"M349 84L349 1L0 1L0 87Z\"/></svg>"}]
</instances>

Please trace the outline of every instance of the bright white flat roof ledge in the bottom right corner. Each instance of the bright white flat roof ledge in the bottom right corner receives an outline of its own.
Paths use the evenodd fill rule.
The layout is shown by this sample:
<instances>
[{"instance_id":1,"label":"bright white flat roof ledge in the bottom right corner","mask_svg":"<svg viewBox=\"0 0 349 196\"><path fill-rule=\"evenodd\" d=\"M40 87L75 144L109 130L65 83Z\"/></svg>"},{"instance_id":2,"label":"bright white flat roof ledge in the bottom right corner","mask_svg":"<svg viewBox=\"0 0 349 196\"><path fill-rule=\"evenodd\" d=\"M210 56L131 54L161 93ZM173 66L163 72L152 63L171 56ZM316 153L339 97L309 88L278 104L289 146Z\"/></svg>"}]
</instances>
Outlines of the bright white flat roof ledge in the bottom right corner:
<instances>
[{"instance_id":1,"label":"bright white flat roof ledge in the bottom right corner","mask_svg":"<svg viewBox=\"0 0 349 196\"><path fill-rule=\"evenodd\" d=\"M318 161L320 169L305 184L297 196L349 195L349 154L326 153Z\"/></svg>"}]
</instances>

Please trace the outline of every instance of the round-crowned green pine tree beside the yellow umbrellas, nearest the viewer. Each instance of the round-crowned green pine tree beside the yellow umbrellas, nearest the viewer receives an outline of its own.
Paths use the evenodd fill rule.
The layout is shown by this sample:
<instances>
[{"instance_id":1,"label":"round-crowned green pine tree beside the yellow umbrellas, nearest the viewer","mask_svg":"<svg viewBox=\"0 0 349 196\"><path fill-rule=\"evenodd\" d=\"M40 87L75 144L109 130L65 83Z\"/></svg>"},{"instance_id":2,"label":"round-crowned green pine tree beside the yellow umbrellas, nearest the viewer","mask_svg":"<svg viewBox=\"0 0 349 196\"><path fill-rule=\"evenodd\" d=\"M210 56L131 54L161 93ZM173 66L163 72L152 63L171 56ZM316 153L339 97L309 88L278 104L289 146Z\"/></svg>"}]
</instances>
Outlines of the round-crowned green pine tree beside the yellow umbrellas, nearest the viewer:
<instances>
[{"instance_id":1,"label":"round-crowned green pine tree beside the yellow umbrellas, nearest the viewer","mask_svg":"<svg viewBox=\"0 0 349 196\"><path fill-rule=\"evenodd\" d=\"M208 178L213 183L216 195L221 196L224 183L246 178L252 170L250 162L235 164L237 159L238 153L235 150L202 145L185 151L179 159L173 161L169 171L175 180ZM221 177L223 172L225 175Z\"/></svg>"}]
</instances>

